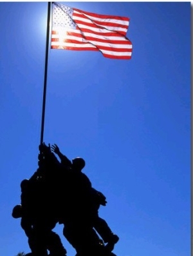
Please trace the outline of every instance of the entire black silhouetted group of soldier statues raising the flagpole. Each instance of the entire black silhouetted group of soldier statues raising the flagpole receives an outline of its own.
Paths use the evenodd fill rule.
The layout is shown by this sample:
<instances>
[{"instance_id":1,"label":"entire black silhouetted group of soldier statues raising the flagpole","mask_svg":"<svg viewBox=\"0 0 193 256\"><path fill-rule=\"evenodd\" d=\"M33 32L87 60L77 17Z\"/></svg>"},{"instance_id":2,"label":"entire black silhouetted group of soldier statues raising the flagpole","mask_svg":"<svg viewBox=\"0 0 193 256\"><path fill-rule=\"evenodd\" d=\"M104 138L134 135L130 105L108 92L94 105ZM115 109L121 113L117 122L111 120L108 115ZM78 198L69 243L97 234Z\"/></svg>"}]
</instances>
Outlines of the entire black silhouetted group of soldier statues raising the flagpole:
<instances>
[{"instance_id":1,"label":"entire black silhouetted group of soldier statues raising the flagpole","mask_svg":"<svg viewBox=\"0 0 193 256\"><path fill-rule=\"evenodd\" d=\"M84 159L70 161L56 144L39 146L39 168L21 182L21 204L12 212L21 218L32 252L28 256L66 256L60 237L53 231L64 224L63 234L76 256L116 256L118 236L98 216L106 197L92 187L82 172ZM60 161L56 157L58 155Z\"/></svg>"}]
</instances>

